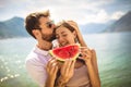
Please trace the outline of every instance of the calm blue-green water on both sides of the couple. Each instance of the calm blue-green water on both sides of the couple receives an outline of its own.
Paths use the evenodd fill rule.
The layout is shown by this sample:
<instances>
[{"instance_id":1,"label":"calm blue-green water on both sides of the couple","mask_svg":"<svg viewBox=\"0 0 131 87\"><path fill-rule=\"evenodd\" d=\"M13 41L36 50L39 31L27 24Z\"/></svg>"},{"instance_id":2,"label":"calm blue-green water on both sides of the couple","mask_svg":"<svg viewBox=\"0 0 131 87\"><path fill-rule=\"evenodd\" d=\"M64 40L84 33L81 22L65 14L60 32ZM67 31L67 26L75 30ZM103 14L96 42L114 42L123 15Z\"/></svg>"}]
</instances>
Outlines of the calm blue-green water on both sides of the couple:
<instances>
[{"instance_id":1,"label":"calm blue-green water on both sides of the couple","mask_svg":"<svg viewBox=\"0 0 131 87\"><path fill-rule=\"evenodd\" d=\"M131 87L131 33L84 35L95 48L102 87ZM33 38L0 40L0 87L37 87L24 61L36 41Z\"/></svg>"}]
</instances>

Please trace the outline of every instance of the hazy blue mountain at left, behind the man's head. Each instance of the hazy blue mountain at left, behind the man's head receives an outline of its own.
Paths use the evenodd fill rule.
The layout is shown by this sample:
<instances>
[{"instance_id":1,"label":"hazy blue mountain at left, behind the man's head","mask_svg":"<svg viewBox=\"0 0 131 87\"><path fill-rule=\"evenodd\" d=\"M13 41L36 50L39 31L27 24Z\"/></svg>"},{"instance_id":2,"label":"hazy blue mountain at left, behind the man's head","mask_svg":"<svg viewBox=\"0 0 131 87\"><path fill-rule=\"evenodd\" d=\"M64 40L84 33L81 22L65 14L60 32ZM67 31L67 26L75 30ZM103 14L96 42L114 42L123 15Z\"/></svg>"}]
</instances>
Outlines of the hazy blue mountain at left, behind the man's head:
<instances>
[{"instance_id":1,"label":"hazy blue mountain at left, behind the man's head","mask_svg":"<svg viewBox=\"0 0 131 87\"><path fill-rule=\"evenodd\" d=\"M27 37L28 34L24 27L24 20L12 17L11 20L0 22L0 38Z\"/></svg>"}]
</instances>

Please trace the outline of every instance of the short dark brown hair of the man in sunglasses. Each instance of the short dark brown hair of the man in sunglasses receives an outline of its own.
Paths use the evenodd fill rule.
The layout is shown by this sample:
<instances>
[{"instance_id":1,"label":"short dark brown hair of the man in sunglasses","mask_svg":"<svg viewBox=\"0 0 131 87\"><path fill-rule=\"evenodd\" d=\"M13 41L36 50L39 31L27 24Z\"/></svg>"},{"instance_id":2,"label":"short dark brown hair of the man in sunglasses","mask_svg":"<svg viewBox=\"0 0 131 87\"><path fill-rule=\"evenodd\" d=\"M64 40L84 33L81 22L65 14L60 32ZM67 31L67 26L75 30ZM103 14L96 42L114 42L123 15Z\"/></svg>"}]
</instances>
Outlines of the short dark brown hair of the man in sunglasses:
<instances>
[{"instance_id":1,"label":"short dark brown hair of the man in sunglasses","mask_svg":"<svg viewBox=\"0 0 131 87\"><path fill-rule=\"evenodd\" d=\"M34 38L35 38L35 36L33 35L32 30L33 29L41 29L39 27L39 18L41 16L44 16L44 17L50 16L49 11L31 13L25 18L25 28L26 28L27 33L29 35L32 35Z\"/></svg>"}]
</instances>

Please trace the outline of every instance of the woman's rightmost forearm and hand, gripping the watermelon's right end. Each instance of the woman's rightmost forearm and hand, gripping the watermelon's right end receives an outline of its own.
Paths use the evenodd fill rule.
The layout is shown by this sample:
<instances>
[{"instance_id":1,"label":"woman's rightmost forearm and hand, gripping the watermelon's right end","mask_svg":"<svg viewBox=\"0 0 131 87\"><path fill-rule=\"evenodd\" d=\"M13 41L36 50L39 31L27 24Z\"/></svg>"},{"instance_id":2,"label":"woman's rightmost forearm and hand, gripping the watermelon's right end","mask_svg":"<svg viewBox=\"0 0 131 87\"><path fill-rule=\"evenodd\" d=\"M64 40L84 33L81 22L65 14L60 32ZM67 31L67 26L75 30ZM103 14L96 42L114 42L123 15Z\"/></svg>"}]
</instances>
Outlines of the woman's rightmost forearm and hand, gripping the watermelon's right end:
<instances>
[{"instance_id":1,"label":"woman's rightmost forearm and hand, gripping the watermelon's right end","mask_svg":"<svg viewBox=\"0 0 131 87\"><path fill-rule=\"evenodd\" d=\"M88 70L88 75L90 75L92 87L100 87L99 76L97 72L95 71L95 67L92 62L93 57L95 57L94 53L92 53L92 50L87 48L83 48L82 57Z\"/></svg>"}]
</instances>

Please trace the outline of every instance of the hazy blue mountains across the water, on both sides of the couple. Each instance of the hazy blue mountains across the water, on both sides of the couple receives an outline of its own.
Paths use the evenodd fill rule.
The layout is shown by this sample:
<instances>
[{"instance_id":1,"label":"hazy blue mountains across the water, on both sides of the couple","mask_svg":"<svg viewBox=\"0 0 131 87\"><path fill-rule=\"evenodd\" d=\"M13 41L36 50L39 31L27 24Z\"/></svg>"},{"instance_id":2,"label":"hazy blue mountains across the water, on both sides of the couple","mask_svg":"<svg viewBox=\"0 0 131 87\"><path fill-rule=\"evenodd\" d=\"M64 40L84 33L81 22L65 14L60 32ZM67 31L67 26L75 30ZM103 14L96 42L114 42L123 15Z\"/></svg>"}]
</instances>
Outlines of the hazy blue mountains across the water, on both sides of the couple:
<instances>
[{"instance_id":1,"label":"hazy blue mountains across the water, on both sides of the couple","mask_svg":"<svg viewBox=\"0 0 131 87\"><path fill-rule=\"evenodd\" d=\"M115 32L131 32L131 11L123 15L118 21L111 21L105 24L85 24L80 25L82 34L93 33L115 33ZM28 37L24 20L21 17L12 17L11 20L0 22L0 38L12 37Z\"/></svg>"}]
</instances>

